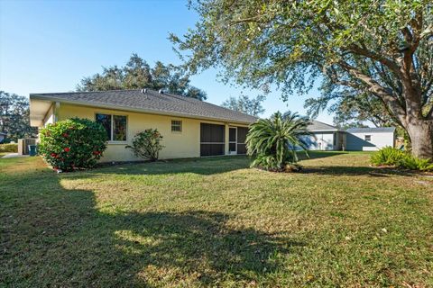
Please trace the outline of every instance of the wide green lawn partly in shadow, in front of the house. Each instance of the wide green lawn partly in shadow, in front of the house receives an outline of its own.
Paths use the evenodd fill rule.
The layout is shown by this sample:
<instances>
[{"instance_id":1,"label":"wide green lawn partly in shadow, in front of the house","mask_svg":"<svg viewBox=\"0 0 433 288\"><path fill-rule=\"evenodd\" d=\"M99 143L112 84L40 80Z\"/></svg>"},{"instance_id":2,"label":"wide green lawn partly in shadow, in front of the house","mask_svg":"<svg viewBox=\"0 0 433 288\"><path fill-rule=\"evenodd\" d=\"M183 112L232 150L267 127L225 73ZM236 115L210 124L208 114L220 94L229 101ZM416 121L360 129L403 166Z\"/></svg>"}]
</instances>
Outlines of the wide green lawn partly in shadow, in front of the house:
<instances>
[{"instance_id":1,"label":"wide green lawn partly in shadow, in front of the house","mask_svg":"<svg viewBox=\"0 0 433 288\"><path fill-rule=\"evenodd\" d=\"M433 286L433 178L314 153L54 174L0 159L0 286Z\"/></svg>"}]
</instances>

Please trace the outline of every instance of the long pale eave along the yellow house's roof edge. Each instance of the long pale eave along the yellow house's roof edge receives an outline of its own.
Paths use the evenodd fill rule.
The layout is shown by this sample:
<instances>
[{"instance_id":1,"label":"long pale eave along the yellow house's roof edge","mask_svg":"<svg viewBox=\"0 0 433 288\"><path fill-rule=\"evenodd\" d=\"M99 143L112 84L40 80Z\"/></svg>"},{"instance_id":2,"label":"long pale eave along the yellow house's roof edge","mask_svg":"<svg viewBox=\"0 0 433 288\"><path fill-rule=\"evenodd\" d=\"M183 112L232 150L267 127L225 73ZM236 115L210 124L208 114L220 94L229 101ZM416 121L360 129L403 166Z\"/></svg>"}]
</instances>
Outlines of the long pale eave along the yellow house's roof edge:
<instances>
[{"instance_id":1,"label":"long pale eave along the yellow house's roof edge","mask_svg":"<svg viewBox=\"0 0 433 288\"><path fill-rule=\"evenodd\" d=\"M62 98L57 98L57 97L45 97L45 96L43 96L43 94L30 94L29 98L35 99L35 100L68 103L68 104L77 104L77 105L88 106L88 107L105 108L105 109L111 109L111 110L123 110L123 111L127 111L127 112L142 112L142 113L148 113L148 114L154 114L154 115L176 116L176 117L183 117L183 118L189 118L189 119L198 119L198 120L207 120L207 121L223 121L223 122L231 122L231 123L238 123L238 124L244 124L244 125L250 125L251 123L253 123L253 121L236 121L233 119L222 119L222 118L199 116L199 115L186 114L186 113L176 113L176 112L161 112L161 111L155 111L155 110L149 110L149 109L132 108L132 107L128 107L128 106L88 103L88 102L82 102L82 101L68 101L68 100L65 100Z\"/></svg>"}]
</instances>

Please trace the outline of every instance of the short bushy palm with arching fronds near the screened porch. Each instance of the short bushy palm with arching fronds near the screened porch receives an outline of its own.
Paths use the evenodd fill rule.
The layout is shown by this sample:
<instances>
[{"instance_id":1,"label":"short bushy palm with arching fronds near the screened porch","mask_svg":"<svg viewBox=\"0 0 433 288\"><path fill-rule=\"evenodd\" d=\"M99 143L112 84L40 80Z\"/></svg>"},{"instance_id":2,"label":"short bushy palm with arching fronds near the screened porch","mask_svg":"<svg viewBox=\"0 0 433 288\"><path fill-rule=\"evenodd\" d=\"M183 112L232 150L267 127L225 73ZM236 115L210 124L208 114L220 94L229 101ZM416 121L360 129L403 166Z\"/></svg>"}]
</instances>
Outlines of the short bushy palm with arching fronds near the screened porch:
<instances>
[{"instance_id":1,"label":"short bushy palm with arching fronds near the screened porch","mask_svg":"<svg viewBox=\"0 0 433 288\"><path fill-rule=\"evenodd\" d=\"M297 150L308 156L307 130L310 121L298 113L274 113L270 119L260 119L250 126L246 137L247 154L255 155L252 166L284 171L288 164L298 162Z\"/></svg>"}]
</instances>

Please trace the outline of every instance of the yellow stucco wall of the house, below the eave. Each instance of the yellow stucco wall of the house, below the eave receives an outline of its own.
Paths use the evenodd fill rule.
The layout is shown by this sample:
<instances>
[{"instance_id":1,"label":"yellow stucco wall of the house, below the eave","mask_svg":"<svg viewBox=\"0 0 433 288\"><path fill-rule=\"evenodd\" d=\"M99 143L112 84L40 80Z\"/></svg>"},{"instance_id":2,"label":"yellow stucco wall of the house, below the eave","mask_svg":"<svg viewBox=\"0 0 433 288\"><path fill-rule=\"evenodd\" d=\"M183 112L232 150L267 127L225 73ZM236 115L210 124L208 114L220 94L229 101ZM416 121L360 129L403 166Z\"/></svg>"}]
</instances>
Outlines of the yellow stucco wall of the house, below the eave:
<instances>
[{"instance_id":1,"label":"yellow stucco wall of the house, below the eave","mask_svg":"<svg viewBox=\"0 0 433 288\"><path fill-rule=\"evenodd\" d=\"M125 146L131 144L136 133L149 128L159 130L163 137L162 145L164 145L165 148L161 150L161 159L199 157L200 122L226 125L226 154L228 154L228 127L246 127L244 124L205 121L174 116L171 117L166 115L145 114L139 112L124 112L63 103L60 103L60 107L56 109L58 121L66 120L72 117L95 120L95 114L97 112L127 116L126 141L117 143L108 142L108 146L104 152L104 157L101 159L102 162L142 160L135 157L132 150L130 148L125 148ZM171 120L182 121L181 132L171 131Z\"/></svg>"}]
</instances>

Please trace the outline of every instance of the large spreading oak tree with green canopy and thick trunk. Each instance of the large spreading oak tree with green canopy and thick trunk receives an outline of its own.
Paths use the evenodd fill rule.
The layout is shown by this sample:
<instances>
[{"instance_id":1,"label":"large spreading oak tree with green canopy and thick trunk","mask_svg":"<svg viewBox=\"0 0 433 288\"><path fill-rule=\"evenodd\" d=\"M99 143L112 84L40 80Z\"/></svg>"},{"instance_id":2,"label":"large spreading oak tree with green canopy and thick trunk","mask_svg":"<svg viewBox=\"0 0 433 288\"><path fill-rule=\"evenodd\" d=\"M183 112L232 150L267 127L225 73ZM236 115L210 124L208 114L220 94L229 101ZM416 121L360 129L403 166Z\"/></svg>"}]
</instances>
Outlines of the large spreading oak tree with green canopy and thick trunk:
<instances>
[{"instance_id":1,"label":"large spreading oak tree with green canopy and thick trunk","mask_svg":"<svg viewBox=\"0 0 433 288\"><path fill-rule=\"evenodd\" d=\"M431 0L203 0L196 27L171 35L195 73L225 67L226 78L283 96L373 95L408 131L412 153L433 157Z\"/></svg>"}]
</instances>

